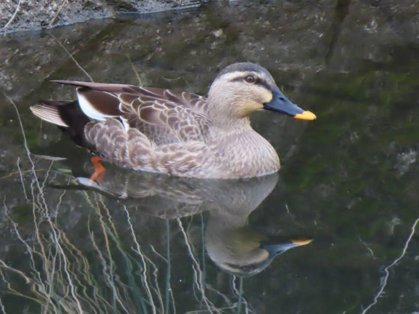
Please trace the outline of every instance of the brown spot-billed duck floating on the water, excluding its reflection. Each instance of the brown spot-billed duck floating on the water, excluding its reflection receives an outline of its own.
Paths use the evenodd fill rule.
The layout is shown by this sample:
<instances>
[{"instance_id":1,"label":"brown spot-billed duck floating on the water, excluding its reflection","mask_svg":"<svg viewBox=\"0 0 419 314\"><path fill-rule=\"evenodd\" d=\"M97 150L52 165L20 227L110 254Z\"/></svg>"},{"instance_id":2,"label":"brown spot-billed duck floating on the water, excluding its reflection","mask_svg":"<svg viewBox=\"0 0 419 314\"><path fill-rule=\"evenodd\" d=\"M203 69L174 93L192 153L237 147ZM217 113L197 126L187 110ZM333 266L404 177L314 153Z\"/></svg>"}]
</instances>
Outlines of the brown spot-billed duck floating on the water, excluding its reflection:
<instances>
[{"instance_id":1,"label":"brown spot-billed duck floating on the water, excluding its reflection","mask_svg":"<svg viewBox=\"0 0 419 314\"><path fill-rule=\"evenodd\" d=\"M221 70L208 96L124 84L53 80L76 86L77 100L44 100L30 109L99 158L170 176L237 179L280 168L273 146L250 126L259 110L314 120L255 63Z\"/></svg>"}]
</instances>

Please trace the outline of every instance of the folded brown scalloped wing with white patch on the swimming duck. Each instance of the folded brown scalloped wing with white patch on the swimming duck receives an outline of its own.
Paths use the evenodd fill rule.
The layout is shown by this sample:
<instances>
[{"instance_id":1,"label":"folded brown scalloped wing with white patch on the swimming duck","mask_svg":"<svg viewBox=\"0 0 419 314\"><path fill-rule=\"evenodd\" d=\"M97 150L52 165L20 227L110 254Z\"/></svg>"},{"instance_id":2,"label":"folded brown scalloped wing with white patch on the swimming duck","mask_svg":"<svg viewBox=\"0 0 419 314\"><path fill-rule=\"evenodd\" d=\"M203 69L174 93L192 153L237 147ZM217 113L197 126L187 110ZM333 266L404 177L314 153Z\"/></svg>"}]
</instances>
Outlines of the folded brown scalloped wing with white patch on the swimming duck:
<instances>
[{"instance_id":1,"label":"folded brown scalloped wing with white patch on the swimming duck","mask_svg":"<svg viewBox=\"0 0 419 314\"><path fill-rule=\"evenodd\" d=\"M134 85L54 82L77 86L80 107L90 118L119 118L157 146L176 142L205 141L210 126L206 97Z\"/></svg>"}]
</instances>

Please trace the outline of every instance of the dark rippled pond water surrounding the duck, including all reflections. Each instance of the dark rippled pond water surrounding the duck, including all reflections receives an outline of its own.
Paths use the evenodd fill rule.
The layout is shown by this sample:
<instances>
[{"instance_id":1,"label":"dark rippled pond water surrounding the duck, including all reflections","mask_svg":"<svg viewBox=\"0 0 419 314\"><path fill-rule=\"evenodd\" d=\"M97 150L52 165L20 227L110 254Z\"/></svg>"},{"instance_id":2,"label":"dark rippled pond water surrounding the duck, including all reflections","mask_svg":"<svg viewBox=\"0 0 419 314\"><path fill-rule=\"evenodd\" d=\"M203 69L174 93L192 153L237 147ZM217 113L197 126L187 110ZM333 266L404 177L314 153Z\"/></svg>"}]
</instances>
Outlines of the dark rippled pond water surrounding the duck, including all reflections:
<instances>
[{"instance_id":1,"label":"dark rippled pond water surrounding the duck, including all reflections","mask_svg":"<svg viewBox=\"0 0 419 314\"><path fill-rule=\"evenodd\" d=\"M418 11L244 1L0 38L0 312L419 313ZM138 84L134 67L144 86L197 94L225 65L259 63L317 120L253 117L278 176L106 164L86 187L91 156L29 110L74 97L49 80L88 80L59 43L96 82ZM259 249L296 239L313 241Z\"/></svg>"}]
</instances>

